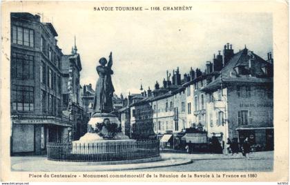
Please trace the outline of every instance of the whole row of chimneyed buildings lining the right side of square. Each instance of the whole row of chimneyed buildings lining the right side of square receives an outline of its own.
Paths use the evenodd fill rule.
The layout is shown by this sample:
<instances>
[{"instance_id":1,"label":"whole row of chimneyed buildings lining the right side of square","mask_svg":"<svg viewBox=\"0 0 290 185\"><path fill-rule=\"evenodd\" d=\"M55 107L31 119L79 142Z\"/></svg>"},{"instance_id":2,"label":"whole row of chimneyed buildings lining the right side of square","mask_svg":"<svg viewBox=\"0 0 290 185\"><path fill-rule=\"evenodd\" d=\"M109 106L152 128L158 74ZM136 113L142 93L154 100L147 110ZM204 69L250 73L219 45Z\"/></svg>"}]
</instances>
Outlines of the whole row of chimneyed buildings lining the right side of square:
<instances>
[{"instance_id":1,"label":"whole row of chimneyed buildings lining the right side of square","mask_svg":"<svg viewBox=\"0 0 290 185\"><path fill-rule=\"evenodd\" d=\"M273 150L271 53L265 61L247 48L234 53L229 43L222 53L218 51L212 62L206 62L204 72L191 69L181 79L177 68L172 81L167 72L161 88L156 82L152 93L131 105L131 126L137 122L138 109L144 110L145 106L153 110L153 115L145 111L142 117L152 116L154 133L166 146L174 148L181 143L178 137L182 135L186 143L209 143L215 137L227 153L228 138L242 144L249 137L253 150ZM140 119L140 130L142 124ZM196 135L200 138L193 139Z\"/></svg>"}]
</instances>

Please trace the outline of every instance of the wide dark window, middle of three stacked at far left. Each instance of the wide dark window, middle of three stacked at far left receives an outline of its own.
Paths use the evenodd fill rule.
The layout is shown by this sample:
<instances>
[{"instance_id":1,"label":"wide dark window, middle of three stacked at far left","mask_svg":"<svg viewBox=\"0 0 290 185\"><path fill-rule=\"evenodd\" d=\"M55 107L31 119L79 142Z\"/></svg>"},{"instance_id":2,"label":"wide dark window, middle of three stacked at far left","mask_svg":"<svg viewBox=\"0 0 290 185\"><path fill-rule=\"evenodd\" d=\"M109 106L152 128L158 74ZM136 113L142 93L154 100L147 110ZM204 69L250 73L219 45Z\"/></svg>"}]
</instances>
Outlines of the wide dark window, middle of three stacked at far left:
<instances>
[{"instance_id":1,"label":"wide dark window, middle of three stacked at far left","mask_svg":"<svg viewBox=\"0 0 290 185\"><path fill-rule=\"evenodd\" d=\"M33 79L34 57L12 53L11 77L12 79Z\"/></svg>"}]
</instances>

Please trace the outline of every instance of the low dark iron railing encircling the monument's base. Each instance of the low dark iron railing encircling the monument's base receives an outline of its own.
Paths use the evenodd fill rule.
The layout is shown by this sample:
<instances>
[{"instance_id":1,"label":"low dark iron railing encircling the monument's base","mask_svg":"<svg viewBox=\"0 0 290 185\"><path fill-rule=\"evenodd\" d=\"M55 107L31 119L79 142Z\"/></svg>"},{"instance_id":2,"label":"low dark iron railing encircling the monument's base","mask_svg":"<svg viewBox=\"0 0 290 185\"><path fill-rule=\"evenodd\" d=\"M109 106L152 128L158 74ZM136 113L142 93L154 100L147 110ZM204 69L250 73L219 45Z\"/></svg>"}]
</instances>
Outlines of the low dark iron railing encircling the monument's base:
<instances>
[{"instance_id":1,"label":"low dark iron railing encircling the monument's base","mask_svg":"<svg viewBox=\"0 0 290 185\"><path fill-rule=\"evenodd\" d=\"M82 151L86 151L86 154L81 154ZM67 162L108 162L144 159L160 156L160 142L159 140L121 142L112 144L109 147L101 143L89 145L49 142L47 144L47 156L49 160Z\"/></svg>"}]
</instances>

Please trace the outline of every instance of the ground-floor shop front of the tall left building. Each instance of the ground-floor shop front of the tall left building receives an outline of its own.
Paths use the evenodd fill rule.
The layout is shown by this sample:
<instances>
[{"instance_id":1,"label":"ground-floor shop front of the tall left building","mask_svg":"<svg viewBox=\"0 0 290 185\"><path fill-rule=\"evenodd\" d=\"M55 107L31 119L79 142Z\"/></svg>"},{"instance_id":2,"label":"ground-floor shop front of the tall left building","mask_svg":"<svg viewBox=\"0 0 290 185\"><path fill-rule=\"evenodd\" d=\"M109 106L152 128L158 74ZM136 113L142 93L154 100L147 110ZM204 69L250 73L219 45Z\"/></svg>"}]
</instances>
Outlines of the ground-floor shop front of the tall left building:
<instances>
[{"instance_id":1,"label":"ground-floor shop front of the tall left building","mask_svg":"<svg viewBox=\"0 0 290 185\"><path fill-rule=\"evenodd\" d=\"M63 142L70 124L55 117L13 116L11 155L45 155L47 142Z\"/></svg>"}]
</instances>

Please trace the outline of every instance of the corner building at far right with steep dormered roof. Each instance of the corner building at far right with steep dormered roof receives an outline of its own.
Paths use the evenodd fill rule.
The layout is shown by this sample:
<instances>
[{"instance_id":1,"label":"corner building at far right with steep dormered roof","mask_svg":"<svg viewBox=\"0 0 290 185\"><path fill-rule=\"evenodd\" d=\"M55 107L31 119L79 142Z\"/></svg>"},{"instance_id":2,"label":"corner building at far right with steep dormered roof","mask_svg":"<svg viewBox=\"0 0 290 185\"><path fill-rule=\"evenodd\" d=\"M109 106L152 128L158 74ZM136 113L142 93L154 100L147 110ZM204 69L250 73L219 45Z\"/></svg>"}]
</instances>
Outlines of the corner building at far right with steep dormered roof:
<instances>
[{"instance_id":1,"label":"corner building at far right with steep dormered roof","mask_svg":"<svg viewBox=\"0 0 290 185\"><path fill-rule=\"evenodd\" d=\"M208 134L218 137L224 150L228 147L227 138L242 143L246 137L257 150L273 150L271 57L265 61L244 48L202 91L209 99L206 104Z\"/></svg>"}]
</instances>

